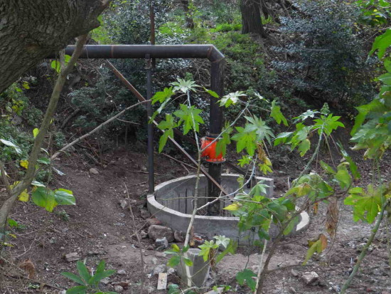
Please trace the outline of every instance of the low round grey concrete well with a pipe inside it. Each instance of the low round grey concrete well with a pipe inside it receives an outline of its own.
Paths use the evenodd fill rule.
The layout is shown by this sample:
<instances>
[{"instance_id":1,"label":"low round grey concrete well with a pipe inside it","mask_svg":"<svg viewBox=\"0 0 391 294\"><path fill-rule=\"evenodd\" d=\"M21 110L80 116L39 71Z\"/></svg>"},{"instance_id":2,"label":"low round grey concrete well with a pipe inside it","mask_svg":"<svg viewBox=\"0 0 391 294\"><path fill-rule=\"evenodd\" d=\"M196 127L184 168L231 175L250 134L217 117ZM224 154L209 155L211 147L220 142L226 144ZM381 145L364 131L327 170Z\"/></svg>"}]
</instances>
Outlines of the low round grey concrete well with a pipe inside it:
<instances>
[{"instance_id":1,"label":"low round grey concrete well with a pipe inside it","mask_svg":"<svg viewBox=\"0 0 391 294\"><path fill-rule=\"evenodd\" d=\"M239 187L237 183L238 174L223 174L222 186L225 191L232 193ZM267 184L268 197L273 196L273 179L257 177L257 182L262 181ZM168 182L164 182L156 186L155 193L147 196L148 209L152 215L156 216L159 221L171 229L178 231L186 231L191 219L193 211L192 199L195 187L195 176L180 177ZM245 191L248 188L245 188ZM198 207L208 202L206 198L208 191L208 182L205 176L200 177L200 194L198 198ZM232 198L235 195L232 195ZM221 208L229 205L229 199L220 201ZM203 211L199 211L203 214ZM194 231L208 238L213 236L223 235L228 238L243 241L245 236L239 233L237 229L238 217L232 216L229 211L223 211L222 216L205 216L197 215L194 220ZM309 225L309 215L302 212L300 215L299 224L296 225L293 233L299 233ZM270 233L277 236L277 226L272 225ZM248 242L248 240L247 240Z\"/></svg>"}]
</instances>

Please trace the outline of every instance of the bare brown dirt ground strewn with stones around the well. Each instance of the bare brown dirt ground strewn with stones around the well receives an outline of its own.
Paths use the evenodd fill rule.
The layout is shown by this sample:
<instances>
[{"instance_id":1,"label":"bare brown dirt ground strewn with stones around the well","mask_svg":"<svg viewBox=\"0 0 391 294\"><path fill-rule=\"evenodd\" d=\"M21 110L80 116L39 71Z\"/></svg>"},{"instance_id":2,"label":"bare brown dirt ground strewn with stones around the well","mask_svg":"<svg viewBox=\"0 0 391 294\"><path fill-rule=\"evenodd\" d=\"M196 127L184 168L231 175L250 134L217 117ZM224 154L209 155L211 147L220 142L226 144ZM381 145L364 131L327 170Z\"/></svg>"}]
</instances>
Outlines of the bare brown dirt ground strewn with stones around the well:
<instances>
[{"instance_id":1,"label":"bare brown dirt ground strewn with stones around the well","mask_svg":"<svg viewBox=\"0 0 391 294\"><path fill-rule=\"evenodd\" d=\"M114 291L116 283L123 282L122 293L139 293L142 275L140 248L134 232L149 224L144 219L147 177L146 154L129 151L124 147L104 154L105 167L90 164L87 159L72 154L62 157L55 166L65 173L56 176L53 187L70 189L77 199L76 206L58 206L54 213L48 213L31 203L18 203L11 218L22 224L23 229L14 229L14 247L7 248L0 268L0 293L60 293L60 290L75 285L60 275L61 272L76 272L76 262L65 261L64 256L76 252L87 266L95 268L104 260L107 268L120 273L109 278L102 290ZM390 180L390 154L382 169ZM360 159L363 182L370 179L370 166ZM288 154L274 160L275 193L278 196L287 187L289 179L304 167L303 159ZM99 174L91 174L95 167ZM289 167L289 168L287 168ZM156 183L188 175L189 170L178 162L163 155L155 160ZM193 170L190 169L190 172ZM119 205L127 200L126 187L135 214L135 223L128 208ZM286 238L272 259L272 273L267 278L264 293L338 293L353 268L360 244L368 240L371 227L362 222L355 223L349 207L340 206L338 233L335 241L320 256L311 259L307 266L301 266L308 249L307 241L325 233L326 204L321 204L318 214L311 216L309 229L299 235ZM388 266L387 240L383 226L368 253L360 272L353 280L348 293L391 293L390 268ZM168 257L156 251L154 243L142 239L146 273L146 289L157 291L157 276L151 275L156 266L166 264ZM230 293L250 293L246 287L237 285L235 275L245 266L257 271L259 254L245 256L245 250L226 256L211 273L209 285L231 285ZM27 273L18 265L30 259L36 275L28 279ZM300 279L304 272L315 271L318 283L306 285ZM168 275L168 283L178 283L175 273ZM207 290L205 290L207 292Z\"/></svg>"}]
</instances>

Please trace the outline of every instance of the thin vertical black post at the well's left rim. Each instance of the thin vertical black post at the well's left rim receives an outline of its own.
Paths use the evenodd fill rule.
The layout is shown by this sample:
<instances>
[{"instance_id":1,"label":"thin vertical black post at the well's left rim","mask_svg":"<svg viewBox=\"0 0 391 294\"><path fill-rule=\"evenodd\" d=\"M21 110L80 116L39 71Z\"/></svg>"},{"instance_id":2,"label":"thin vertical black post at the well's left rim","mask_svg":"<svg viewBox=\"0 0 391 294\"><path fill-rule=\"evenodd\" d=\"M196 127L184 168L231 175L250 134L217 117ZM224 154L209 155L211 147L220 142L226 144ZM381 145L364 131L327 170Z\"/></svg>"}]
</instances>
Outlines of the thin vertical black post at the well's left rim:
<instances>
[{"instance_id":1,"label":"thin vertical black post at the well's left rim","mask_svg":"<svg viewBox=\"0 0 391 294\"><path fill-rule=\"evenodd\" d=\"M149 54L145 56L146 60L146 99L152 98L152 64ZM149 118L152 116L152 104L151 102L146 104L146 116ZM148 191L153 193L155 191L154 182L154 125L148 123Z\"/></svg>"}]
</instances>

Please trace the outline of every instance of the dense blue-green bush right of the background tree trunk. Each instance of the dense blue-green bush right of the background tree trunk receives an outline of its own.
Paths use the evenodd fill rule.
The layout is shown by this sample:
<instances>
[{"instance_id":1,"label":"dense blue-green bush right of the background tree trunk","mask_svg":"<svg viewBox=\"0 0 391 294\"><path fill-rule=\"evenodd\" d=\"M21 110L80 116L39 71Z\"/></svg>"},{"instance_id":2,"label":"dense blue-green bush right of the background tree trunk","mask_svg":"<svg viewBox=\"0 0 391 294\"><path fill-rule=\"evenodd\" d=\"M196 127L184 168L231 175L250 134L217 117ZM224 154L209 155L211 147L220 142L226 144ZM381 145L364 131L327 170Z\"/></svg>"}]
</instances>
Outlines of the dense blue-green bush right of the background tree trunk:
<instances>
[{"instance_id":1,"label":"dense blue-green bush right of the background tree trunk","mask_svg":"<svg viewBox=\"0 0 391 294\"><path fill-rule=\"evenodd\" d=\"M360 11L342 2L301 1L291 18L282 18L286 57L273 61L280 80L310 100L342 108L373 97L371 63L355 27Z\"/></svg>"}]
</instances>

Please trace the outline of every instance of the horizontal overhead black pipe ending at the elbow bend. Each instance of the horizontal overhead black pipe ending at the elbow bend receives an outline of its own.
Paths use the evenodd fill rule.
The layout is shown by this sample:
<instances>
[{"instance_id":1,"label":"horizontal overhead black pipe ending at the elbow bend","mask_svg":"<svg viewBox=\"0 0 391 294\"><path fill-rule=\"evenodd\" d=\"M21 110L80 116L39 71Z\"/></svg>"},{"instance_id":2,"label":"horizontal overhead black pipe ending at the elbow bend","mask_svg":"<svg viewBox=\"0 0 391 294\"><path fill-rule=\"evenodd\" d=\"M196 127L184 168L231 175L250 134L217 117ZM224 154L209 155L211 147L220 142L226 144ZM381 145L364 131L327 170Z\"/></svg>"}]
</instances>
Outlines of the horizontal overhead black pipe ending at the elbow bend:
<instances>
[{"instance_id":1,"label":"horizontal overhead black pipe ending at the elbow bend","mask_svg":"<svg viewBox=\"0 0 391 294\"><path fill-rule=\"evenodd\" d=\"M65 54L72 55L75 46L65 48ZM215 46L207 45L86 45L80 58L208 58L220 62L224 55ZM48 58L55 58L50 54Z\"/></svg>"}]
</instances>

